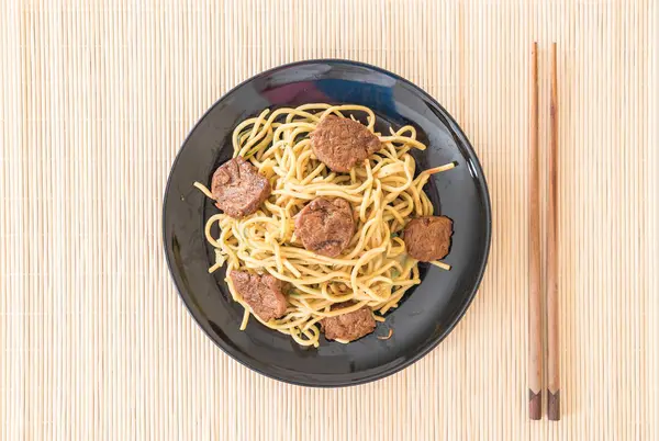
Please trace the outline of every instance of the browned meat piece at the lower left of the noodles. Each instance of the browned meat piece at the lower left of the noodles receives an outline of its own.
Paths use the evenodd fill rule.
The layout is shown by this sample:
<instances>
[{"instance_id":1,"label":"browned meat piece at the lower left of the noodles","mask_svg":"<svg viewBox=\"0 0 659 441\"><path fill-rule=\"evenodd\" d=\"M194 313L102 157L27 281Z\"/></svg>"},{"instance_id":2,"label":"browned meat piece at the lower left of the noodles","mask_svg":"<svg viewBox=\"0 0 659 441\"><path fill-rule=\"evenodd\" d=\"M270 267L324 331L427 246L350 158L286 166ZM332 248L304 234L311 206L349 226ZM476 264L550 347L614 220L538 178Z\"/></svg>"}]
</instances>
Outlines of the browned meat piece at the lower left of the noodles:
<instances>
[{"instance_id":1,"label":"browned meat piece at the lower left of the noodles","mask_svg":"<svg viewBox=\"0 0 659 441\"><path fill-rule=\"evenodd\" d=\"M261 320L269 321L286 313L286 296L288 284L270 274L249 274L245 271L230 273L234 287L254 314Z\"/></svg>"}]
</instances>

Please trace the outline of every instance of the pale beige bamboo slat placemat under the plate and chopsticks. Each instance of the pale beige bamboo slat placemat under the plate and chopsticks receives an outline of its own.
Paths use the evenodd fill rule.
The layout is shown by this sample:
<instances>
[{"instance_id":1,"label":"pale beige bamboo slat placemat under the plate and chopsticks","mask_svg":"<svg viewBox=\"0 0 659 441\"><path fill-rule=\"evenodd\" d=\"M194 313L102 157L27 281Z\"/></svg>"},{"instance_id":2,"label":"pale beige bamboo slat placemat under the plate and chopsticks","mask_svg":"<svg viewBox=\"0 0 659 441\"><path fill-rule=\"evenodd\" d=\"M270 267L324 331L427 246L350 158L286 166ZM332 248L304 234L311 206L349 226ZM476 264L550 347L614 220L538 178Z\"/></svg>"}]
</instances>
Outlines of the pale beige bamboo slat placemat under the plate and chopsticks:
<instances>
[{"instance_id":1,"label":"pale beige bamboo slat placemat under the plate and chopsticks","mask_svg":"<svg viewBox=\"0 0 659 441\"><path fill-rule=\"evenodd\" d=\"M651 0L3 1L0 439L659 439L657 29ZM541 134L558 42L559 423L526 414L534 39ZM194 122L252 75L317 57L436 97L494 210L457 329L404 372L328 391L224 355L160 245L165 182Z\"/></svg>"}]
</instances>

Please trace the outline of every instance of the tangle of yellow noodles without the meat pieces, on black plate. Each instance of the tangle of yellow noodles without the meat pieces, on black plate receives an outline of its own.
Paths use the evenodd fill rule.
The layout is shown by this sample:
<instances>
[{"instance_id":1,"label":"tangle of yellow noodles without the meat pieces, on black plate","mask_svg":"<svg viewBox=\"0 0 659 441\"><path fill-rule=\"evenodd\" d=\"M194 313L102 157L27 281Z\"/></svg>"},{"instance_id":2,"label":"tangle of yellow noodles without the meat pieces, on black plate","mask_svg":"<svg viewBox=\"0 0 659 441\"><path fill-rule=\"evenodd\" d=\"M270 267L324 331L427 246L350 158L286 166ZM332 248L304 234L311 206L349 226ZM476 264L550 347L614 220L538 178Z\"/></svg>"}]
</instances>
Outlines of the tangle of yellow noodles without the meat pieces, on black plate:
<instances>
[{"instance_id":1,"label":"tangle of yellow noodles without the meat pieces, on black plate","mask_svg":"<svg viewBox=\"0 0 659 441\"><path fill-rule=\"evenodd\" d=\"M272 194L259 210L242 219L225 214L211 216L205 225L208 241L215 247L213 272L227 264L232 270L269 273L289 282L288 308L279 319L265 326L290 335L299 344L319 344L323 317L372 309L376 320L395 308L413 285L421 283L417 261L405 253L399 237L406 219L433 214L433 204L422 190L432 173L453 168L453 163L427 170L414 178L415 161L410 149L425 149L416 131L404 126L379 136L382 149L349 173L332 172L313 155L310 132L327 114L353 117L365 113L368 129L375 133L373 112L360 105L304 104L295 109L265 110L242 122L233 133L234 157L242 156L267 177ZM194 186L206 196L201 183ZM348 201L357 218L356 234L336 258L308 251L295 238L294 219L316 196L338 196ZM220 236L211 236L213 224ZM434 262L440 268L449 267ZM234 301L245 314L241 329L250 315L249 306L226 278ZM348 307L332 310L334 304L351 301Z\"/></svg>"}]
</instances>

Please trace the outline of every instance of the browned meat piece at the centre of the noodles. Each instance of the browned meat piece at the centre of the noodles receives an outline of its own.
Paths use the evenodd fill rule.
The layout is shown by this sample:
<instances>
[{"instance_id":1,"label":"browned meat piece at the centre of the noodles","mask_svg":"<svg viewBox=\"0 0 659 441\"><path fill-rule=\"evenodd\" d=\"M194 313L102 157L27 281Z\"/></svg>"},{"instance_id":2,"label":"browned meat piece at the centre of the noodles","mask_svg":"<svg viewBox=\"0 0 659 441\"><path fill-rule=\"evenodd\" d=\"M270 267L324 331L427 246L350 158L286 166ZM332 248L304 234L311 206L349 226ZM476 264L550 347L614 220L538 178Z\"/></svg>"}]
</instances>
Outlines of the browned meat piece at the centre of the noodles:
<instances>
[{"instance_id":1,"label":"browned meat piece at the centre of the noodles","mask_svg":"<svg viewBox=\"0 0 659 441\"><path fill-rule=\"evenodd\" d=\"M295 218L295 236L310 251L336 257L355 234L353 207L340 197L316 197Z\"/></svg>"}]
</instances>

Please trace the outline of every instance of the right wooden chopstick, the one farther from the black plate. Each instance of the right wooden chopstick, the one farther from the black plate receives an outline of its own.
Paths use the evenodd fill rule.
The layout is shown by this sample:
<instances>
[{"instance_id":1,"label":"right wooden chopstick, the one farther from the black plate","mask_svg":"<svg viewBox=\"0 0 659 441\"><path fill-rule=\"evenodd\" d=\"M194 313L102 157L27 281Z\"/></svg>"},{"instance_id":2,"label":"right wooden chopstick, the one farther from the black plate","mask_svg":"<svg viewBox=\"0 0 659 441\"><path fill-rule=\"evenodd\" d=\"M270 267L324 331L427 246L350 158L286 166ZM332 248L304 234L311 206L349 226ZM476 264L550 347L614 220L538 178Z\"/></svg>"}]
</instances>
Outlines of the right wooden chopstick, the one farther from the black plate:
<instances>
[{"instance_id":1,"label":"right wooden chopstick, the one farther from the black plate","mask_svg":"<svg viewBox=\"0 0 659 441\"><path fill-rule=\"evenodd\" d=\"M558 81L556 43L551 44L551 138L549 148L549 207L547 219L547 418L560 419L560 354L558 341Z\"/></svg>"}]
</instances>

